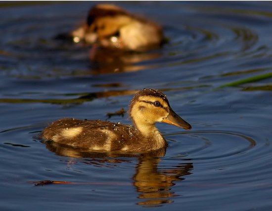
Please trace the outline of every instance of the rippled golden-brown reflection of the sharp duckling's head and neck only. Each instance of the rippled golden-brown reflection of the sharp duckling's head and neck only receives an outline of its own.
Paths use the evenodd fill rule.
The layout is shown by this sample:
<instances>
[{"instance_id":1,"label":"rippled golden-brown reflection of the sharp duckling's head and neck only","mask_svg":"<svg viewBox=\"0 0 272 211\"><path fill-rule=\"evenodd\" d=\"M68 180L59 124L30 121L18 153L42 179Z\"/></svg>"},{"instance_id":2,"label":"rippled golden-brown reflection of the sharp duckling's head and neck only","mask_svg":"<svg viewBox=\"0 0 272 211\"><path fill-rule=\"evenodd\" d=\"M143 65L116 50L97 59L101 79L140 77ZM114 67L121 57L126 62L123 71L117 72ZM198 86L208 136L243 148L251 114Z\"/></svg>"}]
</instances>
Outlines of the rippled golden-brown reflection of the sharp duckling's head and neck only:
<instances>
[{"instance_id":1,"label":"rippled golden-brown reflection of the sharp duckling's head and neck only","mask_svg":"<svg viewBox=\"0 0 272 211\"><path fill-rule=\"evenodd\" d=\"M139 193L138 198L144 201L138 202L141 206L155 206L165 203L173 203L171 200L175 193L171 187L175 181L182 181L182 176L191 174L192 163L180 163L172 168L158 170L160 158L145 156L139 158L136 173L133 177L134 185Z\"/></svg>"}]
</instances>

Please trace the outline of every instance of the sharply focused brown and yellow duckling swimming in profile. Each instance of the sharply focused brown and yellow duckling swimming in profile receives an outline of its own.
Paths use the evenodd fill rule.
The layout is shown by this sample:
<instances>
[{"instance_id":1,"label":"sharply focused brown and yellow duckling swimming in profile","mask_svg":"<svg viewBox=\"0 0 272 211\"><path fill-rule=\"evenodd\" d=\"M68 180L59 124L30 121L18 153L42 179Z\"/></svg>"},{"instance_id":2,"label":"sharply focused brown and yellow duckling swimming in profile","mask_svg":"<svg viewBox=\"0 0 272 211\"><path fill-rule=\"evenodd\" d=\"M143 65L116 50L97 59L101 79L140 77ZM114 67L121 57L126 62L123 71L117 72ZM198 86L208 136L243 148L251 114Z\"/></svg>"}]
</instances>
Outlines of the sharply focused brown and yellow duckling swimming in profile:
<instances>
[{"instance_id":1,"label":"sharply focused brown and yellow duckling swimming in profile","mask_svg":"<svg viewBox=\"0 0 272 211\"><path fill-rule=\"evenodd\" d=\"M167 147L165 138L155 126L156 122L191 129L191 125L171 108L166 95L155 89L136 93L128 114L134 126L101 120L59 119L42 131L41 138L86 152L134 154Z\"/></svg>"}]
</instances>

